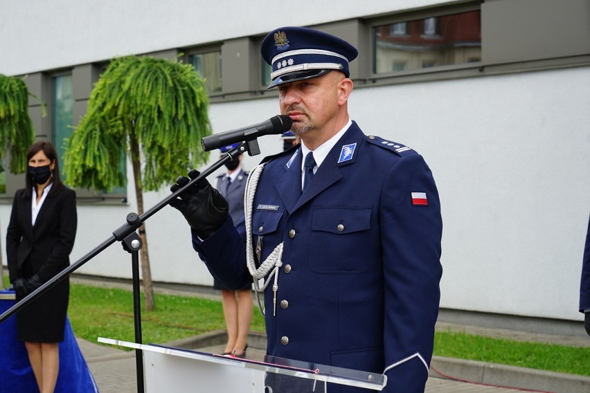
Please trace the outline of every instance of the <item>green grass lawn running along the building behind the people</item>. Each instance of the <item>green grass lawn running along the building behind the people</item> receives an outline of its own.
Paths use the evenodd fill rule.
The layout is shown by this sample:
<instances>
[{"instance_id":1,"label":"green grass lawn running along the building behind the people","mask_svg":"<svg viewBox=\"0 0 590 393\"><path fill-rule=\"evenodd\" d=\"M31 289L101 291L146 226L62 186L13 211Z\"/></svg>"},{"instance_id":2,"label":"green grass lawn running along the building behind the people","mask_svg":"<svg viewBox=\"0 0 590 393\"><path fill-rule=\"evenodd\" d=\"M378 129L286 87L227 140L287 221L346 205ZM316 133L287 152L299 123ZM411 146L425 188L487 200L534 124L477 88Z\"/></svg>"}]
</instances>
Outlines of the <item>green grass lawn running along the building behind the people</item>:
<instances>
[{"instance_id":1,"label":"green grass lawn running along the building behind the people","mask_svg":"<svg viewBox=\"0 0 590 393\"><path fill-rule=\"evenodd\" d=\"M147 312L143 309L142 295L143 342L163 344L225 329L219 301L160 293L154 293L154 300L156 310ZM135 341L131 291L71 284L68 314L73 331L80 338L91 342L96 342L99 336ZM265 330L258 307L253 311L251 330ZM437 331L434 354L590 376L590 348Z\"/></svg>"}]
</instances>

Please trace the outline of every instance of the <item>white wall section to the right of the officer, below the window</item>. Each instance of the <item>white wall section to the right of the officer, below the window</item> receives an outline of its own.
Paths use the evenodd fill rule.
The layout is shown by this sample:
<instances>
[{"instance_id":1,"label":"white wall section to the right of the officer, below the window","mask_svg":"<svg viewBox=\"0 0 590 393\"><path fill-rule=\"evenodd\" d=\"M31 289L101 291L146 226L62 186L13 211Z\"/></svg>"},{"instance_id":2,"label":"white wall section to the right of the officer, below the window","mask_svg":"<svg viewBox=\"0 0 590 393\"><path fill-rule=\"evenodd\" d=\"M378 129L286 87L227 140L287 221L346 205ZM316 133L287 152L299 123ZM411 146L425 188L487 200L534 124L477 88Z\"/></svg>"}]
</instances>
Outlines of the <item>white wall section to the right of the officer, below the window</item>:
<instances>
[{"instance_id":1,"label":"white wall section to the right of the officer, below the window","mask_svg":"<svg viewBox=\"0 0 590 393\"><path fill-rule=\"evenodd\" d=\"M366 134L418 150L442 203L442 307L580 320L590 68L358 89Z\"/></svg>"}]
</instances>

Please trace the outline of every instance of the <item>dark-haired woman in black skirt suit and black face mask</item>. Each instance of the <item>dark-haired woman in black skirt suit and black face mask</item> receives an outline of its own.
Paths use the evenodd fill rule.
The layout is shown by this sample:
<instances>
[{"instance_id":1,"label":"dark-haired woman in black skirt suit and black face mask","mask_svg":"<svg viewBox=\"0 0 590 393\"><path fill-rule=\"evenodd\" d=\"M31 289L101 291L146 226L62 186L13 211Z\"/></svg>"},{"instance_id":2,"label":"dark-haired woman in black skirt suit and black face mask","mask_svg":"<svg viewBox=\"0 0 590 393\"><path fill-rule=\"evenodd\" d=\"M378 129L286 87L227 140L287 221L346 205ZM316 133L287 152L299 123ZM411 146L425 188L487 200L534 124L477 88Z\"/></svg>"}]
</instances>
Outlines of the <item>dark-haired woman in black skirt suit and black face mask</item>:
<instances>
[{"instance_id":1,"label":"dark-haired woman in black skirt suit and black face mask","mask_svg":"<svg viewBox=\"0 0 590 393\"><path fill-rule=\"evenodd\" d=\"M75 192L60 180L55 147L34 143L27 160L26 188L15 194L6 233L8 271L17 300L69 266L78 222ZM41 393L55 390L68 301L66 277L17 313L19 340L25 343Z\"/></svg>"}]
</instances>

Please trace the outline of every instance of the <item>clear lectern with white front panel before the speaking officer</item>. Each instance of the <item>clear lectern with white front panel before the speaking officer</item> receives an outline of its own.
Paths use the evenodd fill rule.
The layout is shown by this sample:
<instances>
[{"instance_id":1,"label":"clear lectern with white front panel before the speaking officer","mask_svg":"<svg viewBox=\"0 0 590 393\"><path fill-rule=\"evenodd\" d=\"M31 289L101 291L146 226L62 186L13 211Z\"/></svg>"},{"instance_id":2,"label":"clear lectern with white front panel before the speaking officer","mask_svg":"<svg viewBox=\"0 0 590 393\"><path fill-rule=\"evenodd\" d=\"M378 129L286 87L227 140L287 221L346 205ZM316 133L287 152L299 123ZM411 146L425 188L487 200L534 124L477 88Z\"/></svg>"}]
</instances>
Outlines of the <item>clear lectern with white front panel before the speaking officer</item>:
<instances>
[{"instance_id":1,"label":"clear lectern with white front panel before the speaking officer","mask_svg":"<svg viewBox=\"0 0 590 393\"><path fill-rule=\"evenodd\" d=\"M231 356L98 338L141 349L146 392L325 393L330 383L382 390L383 374L276 358L253 351Z\"/></svg>"}]
</instances>

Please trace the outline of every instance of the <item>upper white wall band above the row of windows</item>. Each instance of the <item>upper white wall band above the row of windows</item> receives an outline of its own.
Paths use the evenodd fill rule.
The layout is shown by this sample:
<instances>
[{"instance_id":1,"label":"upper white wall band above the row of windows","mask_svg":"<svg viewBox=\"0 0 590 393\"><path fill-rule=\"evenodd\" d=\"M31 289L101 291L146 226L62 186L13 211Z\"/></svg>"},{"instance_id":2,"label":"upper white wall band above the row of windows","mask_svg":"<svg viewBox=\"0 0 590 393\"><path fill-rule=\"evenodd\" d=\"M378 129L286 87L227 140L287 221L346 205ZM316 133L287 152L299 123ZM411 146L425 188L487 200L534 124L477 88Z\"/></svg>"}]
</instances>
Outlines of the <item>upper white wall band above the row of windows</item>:
<instances>
[{"instance_id":1,"label":"upper white wall band above the row of windows","mask_svg":"<svg viewBox=\"0 0 590 393\"><path fill-rule=\"evenodd\" d=\"M445 1L341 0L334 6L315 0L296 5L273 0L2 0L0 73L21 75L436 3Z\"/></svg>"}]
</instances>

